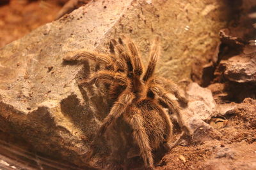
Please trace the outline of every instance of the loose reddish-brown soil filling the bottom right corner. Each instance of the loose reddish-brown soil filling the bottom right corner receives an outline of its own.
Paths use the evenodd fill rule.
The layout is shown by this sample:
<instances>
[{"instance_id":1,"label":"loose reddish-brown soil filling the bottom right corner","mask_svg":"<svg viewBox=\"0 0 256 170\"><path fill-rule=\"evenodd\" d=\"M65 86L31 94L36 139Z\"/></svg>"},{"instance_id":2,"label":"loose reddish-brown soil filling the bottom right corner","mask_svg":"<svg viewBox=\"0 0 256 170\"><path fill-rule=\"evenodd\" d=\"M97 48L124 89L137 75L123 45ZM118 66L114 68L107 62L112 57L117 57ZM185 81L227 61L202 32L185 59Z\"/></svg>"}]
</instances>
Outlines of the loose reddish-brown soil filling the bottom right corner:
<instances>
[{"instance_id":1,"label":"loose reddish-brown soil filling the bottom right corner","mask_svg":"<svg viewBox=\"0 0 256 170\"><path fill-rule=\"evenodd\" d=\"M177 146L157 169L256 169L256 100L246 98L224 116L226 127L212 136L189 146ZM216 137L216 136L214 136Z\"/></svg>"}]
</instances>

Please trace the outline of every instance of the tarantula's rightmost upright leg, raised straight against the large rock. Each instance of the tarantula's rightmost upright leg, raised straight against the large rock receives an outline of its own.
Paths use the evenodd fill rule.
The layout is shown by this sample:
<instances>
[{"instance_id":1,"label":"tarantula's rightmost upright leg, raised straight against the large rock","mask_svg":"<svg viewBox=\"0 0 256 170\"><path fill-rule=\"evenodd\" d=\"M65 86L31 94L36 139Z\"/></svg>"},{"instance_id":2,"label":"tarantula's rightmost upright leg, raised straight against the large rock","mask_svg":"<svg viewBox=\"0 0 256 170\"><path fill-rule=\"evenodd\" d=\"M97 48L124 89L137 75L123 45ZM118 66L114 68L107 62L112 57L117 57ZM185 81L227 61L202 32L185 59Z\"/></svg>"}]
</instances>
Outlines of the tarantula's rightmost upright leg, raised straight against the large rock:
<instances>
[{"instance_id":1,"label":"tarantula's rightmost upright leg, raised straight against the large rock","mask_svg":"<svg viewBox=\"0 0 256 170\"><path fill-rule=\"evenodd\" d=\"M157 62L157 59L159 57L159 38L156 38L154 40L154 43L151 47L151 50L150 50L150 61L148 63L148 67L147 67L147 71L145 73L145 75L143 76L143 80L144 81L147 81L148 78L150 78L153 74L154 74L154 71L155 71L155 67L156 67L156 62Z\"/></svg>"}]
</instances>

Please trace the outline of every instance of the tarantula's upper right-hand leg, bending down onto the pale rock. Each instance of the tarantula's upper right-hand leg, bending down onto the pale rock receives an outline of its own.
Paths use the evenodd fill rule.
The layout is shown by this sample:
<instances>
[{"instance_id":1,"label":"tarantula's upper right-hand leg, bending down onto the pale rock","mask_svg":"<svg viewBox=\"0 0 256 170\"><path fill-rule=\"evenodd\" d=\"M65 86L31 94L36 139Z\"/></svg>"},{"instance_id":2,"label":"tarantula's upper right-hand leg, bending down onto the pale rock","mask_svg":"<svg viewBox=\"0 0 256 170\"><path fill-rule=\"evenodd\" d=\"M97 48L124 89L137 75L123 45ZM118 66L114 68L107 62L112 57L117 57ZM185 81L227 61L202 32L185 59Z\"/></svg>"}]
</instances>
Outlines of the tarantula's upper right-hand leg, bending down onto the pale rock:
<instances>
[{"instance_id":1,"label":"tarantula's upper right-hand leg, bending down onto the pale rock","mask_svg":"<svg viewBox=\"0 0 256 170\"><path fill-rule=\"evenodd\" d=\"M179 88L173 81L166 80L165 78L152 78L149 83L159 85L168 92L174 94L182 108L186 108L188 106L188 100L180 95Z\"/></svg>"}]
</instances>

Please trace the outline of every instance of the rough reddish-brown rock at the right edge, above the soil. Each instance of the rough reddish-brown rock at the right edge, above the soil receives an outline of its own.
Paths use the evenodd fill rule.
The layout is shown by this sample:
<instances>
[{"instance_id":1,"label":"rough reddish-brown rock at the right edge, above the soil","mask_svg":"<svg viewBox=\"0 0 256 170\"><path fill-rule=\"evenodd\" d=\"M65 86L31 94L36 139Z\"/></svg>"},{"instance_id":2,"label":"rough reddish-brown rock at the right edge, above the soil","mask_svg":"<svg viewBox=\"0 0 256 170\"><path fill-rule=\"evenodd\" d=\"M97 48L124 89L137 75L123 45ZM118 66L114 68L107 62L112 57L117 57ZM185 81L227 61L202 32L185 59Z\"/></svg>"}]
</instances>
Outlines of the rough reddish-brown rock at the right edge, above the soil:
<instances>
[{"instance_id":1,"label":"rough reddish-brown rock at the right edge, above the soil","mask_svg":"<svg viewBox=\"0 0 256 170\"><path fill-rule=\"evenodd\" d=\"M224 76L238 83L256 82L256 53L242 54L221 60L220 66L225 67Z\"/></svg>"}]
</instances>

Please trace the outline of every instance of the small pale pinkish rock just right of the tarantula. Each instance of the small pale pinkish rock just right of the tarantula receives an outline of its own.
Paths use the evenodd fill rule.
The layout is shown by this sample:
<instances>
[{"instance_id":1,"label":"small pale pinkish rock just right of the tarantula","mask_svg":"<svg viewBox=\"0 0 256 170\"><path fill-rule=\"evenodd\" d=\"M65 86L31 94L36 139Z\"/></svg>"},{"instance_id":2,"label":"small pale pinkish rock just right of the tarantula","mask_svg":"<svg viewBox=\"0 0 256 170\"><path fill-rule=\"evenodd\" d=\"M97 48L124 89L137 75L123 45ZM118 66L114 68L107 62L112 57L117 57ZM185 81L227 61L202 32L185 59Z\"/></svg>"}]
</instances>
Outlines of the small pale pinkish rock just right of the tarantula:
<instances>
[{"instance_id":1,"label":"small pale pinkish rock just right of the tarantula","mask_svg":"<svg viewBox=\"0 0 256 170\"><path fill-rule=\"evenodd\" d=\"M206 122L218 114L217 105L211 90L191 83L186 90L188 108L182 110L182 118L193 133L193 141L205 141L208 138L220 138L220 134Z\"/></svg>"}]
</instances>

